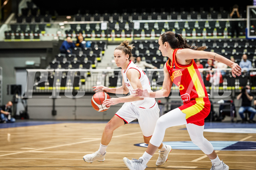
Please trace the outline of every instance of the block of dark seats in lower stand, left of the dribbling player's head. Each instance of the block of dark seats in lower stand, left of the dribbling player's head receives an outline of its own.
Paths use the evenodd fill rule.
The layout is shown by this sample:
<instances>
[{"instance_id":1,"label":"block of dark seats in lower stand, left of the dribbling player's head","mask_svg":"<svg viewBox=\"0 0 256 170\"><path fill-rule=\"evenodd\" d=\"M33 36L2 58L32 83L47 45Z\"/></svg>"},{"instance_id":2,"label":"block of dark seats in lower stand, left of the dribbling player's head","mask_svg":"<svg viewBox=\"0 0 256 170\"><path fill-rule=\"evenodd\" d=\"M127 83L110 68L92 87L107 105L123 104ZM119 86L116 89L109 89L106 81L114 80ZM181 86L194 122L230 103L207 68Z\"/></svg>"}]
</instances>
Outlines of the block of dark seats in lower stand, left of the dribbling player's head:
<instances>
[{"instance_id":1,"label":"block of dark seats in lower stand, left of the dribbling player's head","mask_svg":"<svg viewBox=\"0 0 256 170\"><path fill-rule=\"evenodd\" d=\"M90 47L75 47L72 53L56 54L53 61L48 65L52 69L96 69L97 63L101 61L107 49L106 41L91 41Z\"/></svg>"}]
</instances>

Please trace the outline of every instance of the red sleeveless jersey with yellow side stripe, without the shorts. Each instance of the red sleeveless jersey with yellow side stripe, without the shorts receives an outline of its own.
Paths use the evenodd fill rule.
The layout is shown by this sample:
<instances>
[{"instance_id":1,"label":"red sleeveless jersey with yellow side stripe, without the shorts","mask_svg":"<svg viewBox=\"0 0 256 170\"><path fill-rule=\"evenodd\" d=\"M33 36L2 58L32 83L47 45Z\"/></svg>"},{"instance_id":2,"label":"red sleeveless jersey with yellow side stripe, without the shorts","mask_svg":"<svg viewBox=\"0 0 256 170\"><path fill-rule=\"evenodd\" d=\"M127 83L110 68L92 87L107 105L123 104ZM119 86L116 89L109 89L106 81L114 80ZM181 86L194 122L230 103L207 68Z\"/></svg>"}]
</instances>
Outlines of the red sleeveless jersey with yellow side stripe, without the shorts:
<instances>
[{"instance_id":1,"label":"red sleeveless jersey with yellow side stripe, without the shorts","mask_svg":"<svg viewBox=\"0 0 256 170\"><path fill-rule=\"evenodd\" d=\"M195 98L208 98L204 82L195 61L191 60L191 63L188 65L180 65L176 61L177 50L179 49L173 51L172 61L169 59L166 66L172 82L179 87L183 103L195 100Z\"/></svg>"}]
</instances>

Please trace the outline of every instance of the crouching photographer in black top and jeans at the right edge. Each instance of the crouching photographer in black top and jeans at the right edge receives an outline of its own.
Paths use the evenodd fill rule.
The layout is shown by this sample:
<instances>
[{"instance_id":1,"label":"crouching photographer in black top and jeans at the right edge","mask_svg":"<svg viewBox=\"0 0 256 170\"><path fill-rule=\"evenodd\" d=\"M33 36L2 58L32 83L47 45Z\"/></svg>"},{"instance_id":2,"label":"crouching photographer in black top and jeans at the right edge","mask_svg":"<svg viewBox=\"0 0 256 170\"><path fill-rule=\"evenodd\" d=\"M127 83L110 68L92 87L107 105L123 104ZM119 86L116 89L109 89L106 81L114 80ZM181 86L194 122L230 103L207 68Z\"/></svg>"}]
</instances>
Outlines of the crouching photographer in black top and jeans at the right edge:
<instances>
[{"instance_id":1,"label":"crouching photographer in black top and jeans at the right edge","mask_svg":"<svg viewBox=\"0 0 256 170\"><path fill-rule=\"evenodd\" d=\"M237 96L237 100L242 98L242 105L238 110L240 117L242 118L242 123L247 121L244 117L244 112L250 112L249 123L255 123L253 118L256 114L256 110L252 107L253 94L250 92L250 86L245 86L241 93Z\"/></svg>"}]
</instances>

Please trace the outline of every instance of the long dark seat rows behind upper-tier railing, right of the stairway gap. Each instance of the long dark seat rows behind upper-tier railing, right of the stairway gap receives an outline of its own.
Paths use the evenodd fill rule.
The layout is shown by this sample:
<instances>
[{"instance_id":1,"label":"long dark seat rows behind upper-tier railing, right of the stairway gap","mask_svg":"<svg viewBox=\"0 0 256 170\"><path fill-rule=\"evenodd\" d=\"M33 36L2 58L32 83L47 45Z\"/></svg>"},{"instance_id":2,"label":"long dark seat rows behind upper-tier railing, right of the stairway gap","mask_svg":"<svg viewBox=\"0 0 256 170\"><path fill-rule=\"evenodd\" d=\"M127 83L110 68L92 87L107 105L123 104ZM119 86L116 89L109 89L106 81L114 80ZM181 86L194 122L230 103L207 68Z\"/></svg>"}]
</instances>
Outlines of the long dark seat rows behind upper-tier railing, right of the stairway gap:
<instances>
[{"instance_id":1,"label":"long dark seat rows behind upper-tier railing, right of the stairway gap","mask_svg":"<svg viewBox=\"0 0 256 170\"><path fill-rule=\"evenodd\" d=\"M138 25L138 24L137 24ZM70 24L65 34L79 34L85 37L159 37L166 31L183 34L184 37L228 37L231 36L232 27L229 21L185 21L185 22L145 22L134 28L134 23L127 20L109 22L107 30L101 30L100 24ZM239 22L239 36L245 36L246 20Z\"/></svg>"}]
</instances>

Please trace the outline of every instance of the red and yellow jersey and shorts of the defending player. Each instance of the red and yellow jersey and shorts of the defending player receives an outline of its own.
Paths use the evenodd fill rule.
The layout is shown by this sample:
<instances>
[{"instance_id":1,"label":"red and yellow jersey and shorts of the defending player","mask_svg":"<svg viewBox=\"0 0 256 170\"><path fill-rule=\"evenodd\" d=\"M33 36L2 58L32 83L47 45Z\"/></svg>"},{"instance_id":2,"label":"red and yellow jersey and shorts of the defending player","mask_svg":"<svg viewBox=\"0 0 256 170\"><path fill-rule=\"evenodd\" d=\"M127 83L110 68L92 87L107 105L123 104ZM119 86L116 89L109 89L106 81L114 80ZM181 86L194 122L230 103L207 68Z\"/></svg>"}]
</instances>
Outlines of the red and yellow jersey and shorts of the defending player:
<instances>
[{"instance_id":1,"label":"red and yellow jersey and shorts of the defending player","mask_svg":"<svg viewBox=\"0 0 256 170\"><path fill-rule=\"evenodd\" d=\"M182 49L173 51L172 61L169 59L166 66L172 82L179 87L184 103L179 109L186 114L187 123L202 126L210 113L211 103L195 61L191 60L188 65L179 64L176 61L177 50Z\"/></svg>"}]
</instances>

